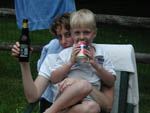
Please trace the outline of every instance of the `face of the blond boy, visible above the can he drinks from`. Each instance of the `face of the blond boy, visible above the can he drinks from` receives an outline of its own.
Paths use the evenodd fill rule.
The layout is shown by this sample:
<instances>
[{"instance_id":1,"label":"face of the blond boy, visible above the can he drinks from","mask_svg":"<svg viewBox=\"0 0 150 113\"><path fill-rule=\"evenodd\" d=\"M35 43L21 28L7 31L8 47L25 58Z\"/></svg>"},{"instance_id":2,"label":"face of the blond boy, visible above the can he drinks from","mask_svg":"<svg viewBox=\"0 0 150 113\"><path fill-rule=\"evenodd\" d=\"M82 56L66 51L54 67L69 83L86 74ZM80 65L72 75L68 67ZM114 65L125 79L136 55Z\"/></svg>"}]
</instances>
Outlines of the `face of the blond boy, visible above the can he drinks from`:
<instances>
[{"instance_id":1,"label":"face of the blond boy, visible above the can he drinks from","mask_svg":"<svg viewBox=\"0 0 150 113\"><path fill-rule=\"evenodd\" d=\"M91 45L93 39L96 37L97 30L89 28L74 28L71 31L74 43L78 43L79 40L85 41L87 45Z\"/></svg>"}]
</instances>

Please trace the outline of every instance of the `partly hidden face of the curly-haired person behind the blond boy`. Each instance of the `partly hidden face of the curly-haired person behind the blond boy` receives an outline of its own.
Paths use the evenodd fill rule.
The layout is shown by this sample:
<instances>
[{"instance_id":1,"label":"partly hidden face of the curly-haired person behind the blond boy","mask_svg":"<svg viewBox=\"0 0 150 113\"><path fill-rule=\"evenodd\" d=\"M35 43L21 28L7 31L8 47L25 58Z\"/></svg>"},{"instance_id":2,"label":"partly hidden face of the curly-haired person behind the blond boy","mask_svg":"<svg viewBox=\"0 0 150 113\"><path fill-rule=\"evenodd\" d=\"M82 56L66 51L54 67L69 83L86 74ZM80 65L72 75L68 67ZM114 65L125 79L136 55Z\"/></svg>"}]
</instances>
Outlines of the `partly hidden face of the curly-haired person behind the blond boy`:
<instances>
[{"instance_id":1,"label":"partly hidden face of the curly-haired person behind the blond boy","mask_svg":"<svg viewBox=\"0 0 150 113\"><path fill-rule=\"evenodd\" d=\"M58 27L56 32L59 43L63 49L71 47L73 45L73 38L71 37L71 33L70 31L65 29L64 25Z\"/></svg>"}]
</instances>

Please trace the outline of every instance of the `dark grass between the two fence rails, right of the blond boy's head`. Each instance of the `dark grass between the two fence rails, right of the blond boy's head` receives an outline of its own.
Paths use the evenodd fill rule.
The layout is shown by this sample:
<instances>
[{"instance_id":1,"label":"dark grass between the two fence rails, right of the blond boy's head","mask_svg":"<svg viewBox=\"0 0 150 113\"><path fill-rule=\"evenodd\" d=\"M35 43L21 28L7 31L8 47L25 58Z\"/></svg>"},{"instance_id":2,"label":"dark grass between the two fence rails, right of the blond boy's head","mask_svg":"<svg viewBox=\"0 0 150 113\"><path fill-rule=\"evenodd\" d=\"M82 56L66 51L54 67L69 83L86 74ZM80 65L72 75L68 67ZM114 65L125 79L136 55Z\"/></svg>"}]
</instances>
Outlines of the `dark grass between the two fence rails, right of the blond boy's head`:
<instances>
[{"instance_id":1,"label":"dark grass between the two fence rails, right of the blond boy's head","mask_svg":"<svg viewBox=\"0 0 150 113\"><path fill-rule=\"evenodd\" d=\"M132 44L135 52L150 52L150 29L98 25L96 43Z\"/></svg>"}]
</instances>

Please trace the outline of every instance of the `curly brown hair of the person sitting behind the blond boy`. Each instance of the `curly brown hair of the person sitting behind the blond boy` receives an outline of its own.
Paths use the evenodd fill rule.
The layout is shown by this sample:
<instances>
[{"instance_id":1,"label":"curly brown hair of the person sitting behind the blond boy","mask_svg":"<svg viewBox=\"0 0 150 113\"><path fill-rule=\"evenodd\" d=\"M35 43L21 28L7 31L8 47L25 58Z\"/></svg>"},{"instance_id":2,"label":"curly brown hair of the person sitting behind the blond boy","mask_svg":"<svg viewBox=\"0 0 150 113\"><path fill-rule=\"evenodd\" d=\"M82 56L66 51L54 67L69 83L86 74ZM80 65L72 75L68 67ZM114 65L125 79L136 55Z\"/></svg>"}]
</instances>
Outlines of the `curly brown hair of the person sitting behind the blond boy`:
<instances>
[{"instance_id":1,"label":"curly brown hair of the person sitting behind the blond boy","mask_svg":"<svg viewBox=\"0 0 150 113\"><path fill-rule=\"evenodd\" d=\"M50 32L57 36L58 27L62 27L64 25L65 29L70 31L70 13L64 13L55 18L50 27Z\"/></svg>"}]
</instances>

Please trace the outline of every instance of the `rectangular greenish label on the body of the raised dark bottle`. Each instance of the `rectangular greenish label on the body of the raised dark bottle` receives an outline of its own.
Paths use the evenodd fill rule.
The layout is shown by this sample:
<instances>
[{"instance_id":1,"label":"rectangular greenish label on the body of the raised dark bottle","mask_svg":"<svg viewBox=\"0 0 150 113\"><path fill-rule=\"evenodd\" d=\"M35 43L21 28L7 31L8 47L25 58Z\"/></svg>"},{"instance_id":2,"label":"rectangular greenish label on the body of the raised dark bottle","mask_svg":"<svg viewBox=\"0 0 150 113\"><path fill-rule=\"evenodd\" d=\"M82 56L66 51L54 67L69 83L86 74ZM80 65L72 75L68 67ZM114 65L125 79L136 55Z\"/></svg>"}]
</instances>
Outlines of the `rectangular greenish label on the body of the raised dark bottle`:
<instances>
[{"instance_id":1,"label":"rectangular greenish label on the body of the raised dark bottle","mask_svg":"<svg viewBox=\"0 0 150 113\"><path fill-rule=\"evenodd\" d=\"M29 48L27 44L20 45L20 57L28 57Z\"/></svg>"}]
</instances>

